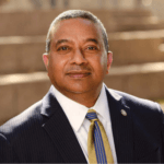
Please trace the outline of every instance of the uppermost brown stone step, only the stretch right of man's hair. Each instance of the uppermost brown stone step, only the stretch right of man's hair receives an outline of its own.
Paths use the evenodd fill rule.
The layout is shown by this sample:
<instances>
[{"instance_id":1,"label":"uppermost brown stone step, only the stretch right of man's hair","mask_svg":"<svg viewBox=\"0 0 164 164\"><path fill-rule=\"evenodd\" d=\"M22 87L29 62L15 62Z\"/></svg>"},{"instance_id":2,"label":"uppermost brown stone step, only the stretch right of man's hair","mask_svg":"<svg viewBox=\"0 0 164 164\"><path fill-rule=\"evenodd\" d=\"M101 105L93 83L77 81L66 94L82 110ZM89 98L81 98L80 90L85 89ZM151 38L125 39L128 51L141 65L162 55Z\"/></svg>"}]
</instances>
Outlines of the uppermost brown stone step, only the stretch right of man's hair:
<instances>
[{"instance_id":1,"label":"uppermost brown stone step, only the stretch right of man's hair","mask_svg":"<svg viewBox=\"0 0 164 164\"><path fill-rule=\"evenodd\" d=\"M101 19L107 32L137 31L142 28L152 30L154 26L156 28L163 28L162 25L159 25L160 21L157 17L153 16L149 10L102 10L93 11L93 13ZM144 27L145 24L149 24L147 28ZM137 27L134 28L136 25Z\"/></svg>"}]
</instances>

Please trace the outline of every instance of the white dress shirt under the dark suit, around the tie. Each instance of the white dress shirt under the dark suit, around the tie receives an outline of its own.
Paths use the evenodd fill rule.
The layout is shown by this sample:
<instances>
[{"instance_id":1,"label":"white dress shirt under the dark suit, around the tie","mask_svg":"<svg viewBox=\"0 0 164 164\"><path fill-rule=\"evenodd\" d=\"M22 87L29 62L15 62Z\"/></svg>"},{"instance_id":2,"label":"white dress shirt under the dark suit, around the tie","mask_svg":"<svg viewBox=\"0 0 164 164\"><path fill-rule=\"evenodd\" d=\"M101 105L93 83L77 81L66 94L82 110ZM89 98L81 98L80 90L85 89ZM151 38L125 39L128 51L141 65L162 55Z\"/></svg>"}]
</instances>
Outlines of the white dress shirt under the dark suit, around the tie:
<instances>
[{"instance_id":1,"label":"white dress shirt under the dark suit, around the tie","mask_svg":"<svg viewBox=\"0 0 164 164\"><path fill-rule=\"evenodd\" d=\"M116 151L115 151L115 144L114 144L114 137L113 137L113 130L112 130L112 121L110 121L110 114L109 114L109 106L108 106L108 101L107 101L107 95L105 91L105 84L103 84L101 94L92 109L96 110L97 117L99 121L103 124L104 129L106 131L109 145L112 149L113 157L114 157L114 163L117 163L117 157L116 157ZM77 138L78 141L83 150L83 153L85 155L85 159L89 163L89 155L87 155L87 133L90 129L90 120L85 118L87 108L84 105L81 105L63 94L61 94L55 86L54 89L54 94L61 105Z\"/></svg>"}]
</instances>

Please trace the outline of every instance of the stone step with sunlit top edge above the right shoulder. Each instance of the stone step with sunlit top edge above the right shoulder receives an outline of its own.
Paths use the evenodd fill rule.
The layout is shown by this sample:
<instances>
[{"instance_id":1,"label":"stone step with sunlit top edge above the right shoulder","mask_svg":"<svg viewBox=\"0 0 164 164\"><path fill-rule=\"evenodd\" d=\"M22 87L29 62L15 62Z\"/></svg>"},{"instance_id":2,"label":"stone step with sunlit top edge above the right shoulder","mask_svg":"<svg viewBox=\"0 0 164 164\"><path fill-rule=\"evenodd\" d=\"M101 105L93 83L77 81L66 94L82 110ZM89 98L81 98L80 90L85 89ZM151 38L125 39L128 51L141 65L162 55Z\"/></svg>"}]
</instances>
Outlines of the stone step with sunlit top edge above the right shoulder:
<instances>
[{"instance_id":1,"label":"stone step with sunlit top edge above the right shoulder","mask_svg":"<svg viewBox=\"0 0 164 164\"><path fill-rule=\"evenodd\" d=\"M142 98L164 98L164 62L112 67L105 83Z\"/></svg>"}]
</instances>

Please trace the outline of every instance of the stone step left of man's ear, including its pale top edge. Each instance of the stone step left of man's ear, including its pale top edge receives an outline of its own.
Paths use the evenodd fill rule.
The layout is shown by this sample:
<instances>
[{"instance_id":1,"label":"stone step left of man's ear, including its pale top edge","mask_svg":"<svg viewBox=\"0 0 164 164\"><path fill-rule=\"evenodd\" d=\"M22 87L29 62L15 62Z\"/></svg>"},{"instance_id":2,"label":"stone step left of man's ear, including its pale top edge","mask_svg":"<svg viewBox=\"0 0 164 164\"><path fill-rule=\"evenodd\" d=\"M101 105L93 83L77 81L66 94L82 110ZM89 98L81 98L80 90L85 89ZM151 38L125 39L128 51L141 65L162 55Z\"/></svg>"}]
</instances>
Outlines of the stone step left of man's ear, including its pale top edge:
<instances>
[{"instance_id":1,"label":"stone step left of man's ear, including its pale top edge","mask_svg":"<svg viewBox=\"0 0 164 164\"><path fill-rule=\"evenodd\" d=\"M0 74L45 71L45 40L46 36L1 37Z\"/></svg>"}]
</instances>

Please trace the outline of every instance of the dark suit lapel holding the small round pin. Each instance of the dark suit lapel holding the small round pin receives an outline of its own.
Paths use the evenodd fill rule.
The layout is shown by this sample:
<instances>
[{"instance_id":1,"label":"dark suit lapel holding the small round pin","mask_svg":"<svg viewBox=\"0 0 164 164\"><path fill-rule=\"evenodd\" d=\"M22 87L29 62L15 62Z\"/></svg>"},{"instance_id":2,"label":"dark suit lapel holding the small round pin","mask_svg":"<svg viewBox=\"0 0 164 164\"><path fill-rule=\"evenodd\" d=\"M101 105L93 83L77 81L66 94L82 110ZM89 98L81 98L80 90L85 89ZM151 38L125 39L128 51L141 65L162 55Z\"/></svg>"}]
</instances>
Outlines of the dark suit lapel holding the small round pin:
<instances>
[{"instance_id":1,"label":"dark suit lapel holding the small round pin","mask_svg":"<svg viewBox=\"0 0 164 164\"><path fill-rule=\"evenodd\" d=\"M133 136L130 109L124 102L124 98L113 90L107 91L107 98L109 103L109 113L112 119L117 162L132 163ZM121 114L121 109L124 109L127 113L127 116L124 116Z\"/></svg>"}]
</instances>

